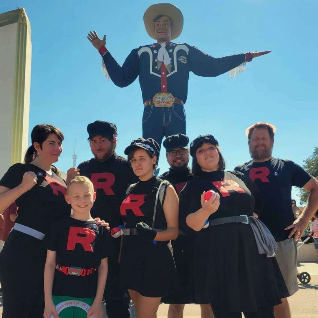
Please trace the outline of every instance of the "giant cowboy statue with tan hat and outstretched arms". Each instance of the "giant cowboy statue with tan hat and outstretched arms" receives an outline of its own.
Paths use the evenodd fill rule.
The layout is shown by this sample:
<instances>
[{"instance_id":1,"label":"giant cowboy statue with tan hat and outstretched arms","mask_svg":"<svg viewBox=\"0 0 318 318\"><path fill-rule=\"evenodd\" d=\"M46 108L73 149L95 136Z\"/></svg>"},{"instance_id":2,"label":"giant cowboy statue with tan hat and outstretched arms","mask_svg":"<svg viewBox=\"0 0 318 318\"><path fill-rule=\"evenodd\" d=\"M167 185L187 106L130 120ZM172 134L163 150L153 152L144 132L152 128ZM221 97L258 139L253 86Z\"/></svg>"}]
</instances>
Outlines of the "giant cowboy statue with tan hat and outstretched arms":
<instances>
[{"instance_id":1,"label":"giant cowboy statue with tan hat and outstretched arms","mask_svg":"<svg viewBox=\"0 0 318 318\"><path fill-rule=\"evenodd\" d=\"M131 51L123 66L105 47L95 31L87 38L103 58L104 73L119 87L130 85L139 75L144 112L142 137L153 138L161 146L163 136L186 135L183 105L187 100L189 72L214 77L232 70L240 73L245 62L271 51L241 53L213 58L187 43L171 42L183 28L183 15L173 4L151 5L143 16L149 36L157 42Z\"/></svg>"}]
</instances>

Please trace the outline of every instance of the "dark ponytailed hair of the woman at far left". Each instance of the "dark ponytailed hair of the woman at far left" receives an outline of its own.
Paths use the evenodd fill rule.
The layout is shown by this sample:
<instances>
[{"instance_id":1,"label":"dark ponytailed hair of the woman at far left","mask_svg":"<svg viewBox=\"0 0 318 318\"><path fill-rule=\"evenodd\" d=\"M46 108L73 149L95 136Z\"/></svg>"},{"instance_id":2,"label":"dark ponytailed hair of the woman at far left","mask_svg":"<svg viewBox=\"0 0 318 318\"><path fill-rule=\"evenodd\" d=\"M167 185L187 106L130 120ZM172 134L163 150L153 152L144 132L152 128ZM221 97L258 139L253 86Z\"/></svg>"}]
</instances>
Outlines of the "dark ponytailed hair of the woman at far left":
<instances>
[{"instance_id":1,"label":"dark ponytailed hair of the woman at far left","mask_svg":"<svg viewBox=\"0 0 318 318\"><path fill-rule=\"evenodd\" d=\"M37 156L37 151L35 150L33 144L38 142L40 148L42 149L42 144L50 134L55 134L62 141L64 140L64 135L59 130L59 128L49 125L49 124L39 124L36 125L31 132L31 143L32 145L28 148L24 156L24 163L30 163Z\"/></svg>"}]
</instances>

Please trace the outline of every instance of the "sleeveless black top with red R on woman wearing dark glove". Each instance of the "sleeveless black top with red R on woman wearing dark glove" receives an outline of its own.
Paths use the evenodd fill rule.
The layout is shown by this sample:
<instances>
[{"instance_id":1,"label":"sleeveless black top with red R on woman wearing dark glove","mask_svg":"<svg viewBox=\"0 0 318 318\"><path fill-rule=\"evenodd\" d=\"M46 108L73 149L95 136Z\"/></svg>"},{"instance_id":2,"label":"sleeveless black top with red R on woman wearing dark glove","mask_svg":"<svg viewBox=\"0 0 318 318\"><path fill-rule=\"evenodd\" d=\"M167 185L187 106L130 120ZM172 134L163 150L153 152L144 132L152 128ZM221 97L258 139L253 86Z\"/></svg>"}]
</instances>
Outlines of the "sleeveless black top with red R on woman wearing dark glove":
<instances>
[{"instance_id":1,"label":"sleeveless black top with red R on woman wearing dark glove","mask_svg":"<svg viewBox=\"0 0 318 318\"><path fill-rule=\"evenodd\" d=\"M153 176L147 181L139 180L136 183L120 206L120 213L126 222L126 228L135 228L139 222L144 222L152 227L156 194L161 182L161 179ZM162 202L164 202L165 193L166 191L164 192ZM166 218L159 198L154 228L167 228Z\"/></svg>"}]
</instances>

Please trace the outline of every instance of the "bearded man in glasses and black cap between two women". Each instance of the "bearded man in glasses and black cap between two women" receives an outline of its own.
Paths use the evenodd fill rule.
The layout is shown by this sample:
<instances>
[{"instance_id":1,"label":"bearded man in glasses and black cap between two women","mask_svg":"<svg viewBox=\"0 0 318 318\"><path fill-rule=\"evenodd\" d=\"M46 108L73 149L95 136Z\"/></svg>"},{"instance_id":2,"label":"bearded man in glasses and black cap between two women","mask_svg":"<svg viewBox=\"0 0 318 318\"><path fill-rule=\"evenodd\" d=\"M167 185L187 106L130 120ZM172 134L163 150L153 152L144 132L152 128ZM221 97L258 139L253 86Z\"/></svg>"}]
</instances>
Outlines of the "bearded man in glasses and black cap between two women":
<instances>
[{"instance_id":1,"label":"bearded man in glasses and black cap between two women","mask_svg":"<svg viewBox=\"0 0 318 318\"><path fill-rule=\"evenodd\" d=\"M171 135L163 142L170 169L159 178L168 180L174 186L178 195L185 184L193 178L191 169L188 166L190 159L188 143L189 137L183 134ZM194 303L192 274L190 273L192 250L192 238L188 235L179 235L173 242L173 256L181 286L176 293L162 298L162 302L170 304L168 318L183 317L184 305ZM200 306L201 317L214 317L210 304L202 304Z\"/></svg>"}]
</instances>

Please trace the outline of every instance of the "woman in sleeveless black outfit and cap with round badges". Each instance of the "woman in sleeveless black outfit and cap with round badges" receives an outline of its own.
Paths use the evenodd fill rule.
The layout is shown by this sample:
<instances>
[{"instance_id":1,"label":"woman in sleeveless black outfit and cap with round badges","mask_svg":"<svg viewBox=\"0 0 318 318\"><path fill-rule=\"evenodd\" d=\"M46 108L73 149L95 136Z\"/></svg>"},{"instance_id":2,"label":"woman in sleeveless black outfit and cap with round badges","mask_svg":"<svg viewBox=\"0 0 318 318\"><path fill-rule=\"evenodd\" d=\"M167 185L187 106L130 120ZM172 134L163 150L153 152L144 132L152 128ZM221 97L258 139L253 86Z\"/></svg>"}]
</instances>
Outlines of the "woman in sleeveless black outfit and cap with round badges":
<instances>
[{"instance_id":1,"label":"woman in sleeveless black outfit and cap with round badges","mask_svg":"<svg viewBox=\"0 0 318 318\"><path fill-rule=\"evenodd\" d=\"M121 281L137 318L155 318L161 297L178 287L170 240L178 236L179 199L170 183L154 176L159 154L155 140L133 140L125 154L139 181L128 188L120 207L126 224Z\"/></svg>"}]
</instances>

